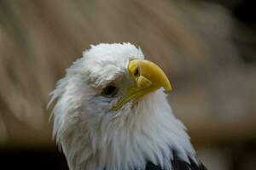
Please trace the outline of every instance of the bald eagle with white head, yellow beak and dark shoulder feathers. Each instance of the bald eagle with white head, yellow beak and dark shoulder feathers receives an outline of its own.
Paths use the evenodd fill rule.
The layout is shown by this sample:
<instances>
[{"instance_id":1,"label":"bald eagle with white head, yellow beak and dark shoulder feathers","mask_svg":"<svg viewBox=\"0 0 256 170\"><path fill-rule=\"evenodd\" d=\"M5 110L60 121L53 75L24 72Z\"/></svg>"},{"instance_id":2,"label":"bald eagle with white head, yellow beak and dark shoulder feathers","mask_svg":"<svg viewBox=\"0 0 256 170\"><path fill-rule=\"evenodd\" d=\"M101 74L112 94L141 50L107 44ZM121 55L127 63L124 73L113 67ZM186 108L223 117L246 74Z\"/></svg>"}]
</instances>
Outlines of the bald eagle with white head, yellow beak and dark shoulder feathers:
<instances>
[{"instance_id":1,"label":"bald eagle with white head, yellow beak and dark shoulder feathers","mask_svg":"<svg viewBox=\"0 0 256 170\"><path fill-rule=\"evenodd\" d=\"M51 93L70 170L205 170L166 99L164 71L129 42L91 45Z\"/></svg>"}]
</instances>

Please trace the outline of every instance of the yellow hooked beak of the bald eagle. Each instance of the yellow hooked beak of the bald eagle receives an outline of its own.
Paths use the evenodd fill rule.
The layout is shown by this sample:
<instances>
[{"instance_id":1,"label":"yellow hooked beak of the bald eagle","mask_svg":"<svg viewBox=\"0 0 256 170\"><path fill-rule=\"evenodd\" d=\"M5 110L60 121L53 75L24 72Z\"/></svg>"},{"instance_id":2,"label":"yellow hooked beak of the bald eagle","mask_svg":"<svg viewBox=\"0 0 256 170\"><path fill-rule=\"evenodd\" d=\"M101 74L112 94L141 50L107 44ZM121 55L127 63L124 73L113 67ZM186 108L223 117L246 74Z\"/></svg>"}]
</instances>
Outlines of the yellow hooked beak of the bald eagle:
<instances>
[{"instance_id":1,"label":"yellow hooked beak of the bald eagle","mask_svg":"<svg viewBox=\"0 0 256 170\"><path fill-rule=\"evenodd\" d=\"M164 71L158 65L147 59L133 59L129 62L128 71L134 83L125 89L124 97L119 99L113 110L118 110L126 102L133 99L137 102L144 95L154 92L159 88L171 91L172 86Z\"/></svg>"}]
</instances>

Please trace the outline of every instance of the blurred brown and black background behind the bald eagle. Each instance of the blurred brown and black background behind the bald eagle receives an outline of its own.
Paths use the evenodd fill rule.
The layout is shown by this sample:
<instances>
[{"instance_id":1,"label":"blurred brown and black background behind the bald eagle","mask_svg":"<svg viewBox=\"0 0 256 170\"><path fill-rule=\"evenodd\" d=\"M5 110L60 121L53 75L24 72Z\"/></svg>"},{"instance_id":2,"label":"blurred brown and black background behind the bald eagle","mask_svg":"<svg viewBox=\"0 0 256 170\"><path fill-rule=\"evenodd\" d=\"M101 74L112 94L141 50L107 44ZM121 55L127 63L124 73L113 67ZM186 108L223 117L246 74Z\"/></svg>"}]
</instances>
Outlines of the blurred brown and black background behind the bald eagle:
<instances>
[{"instance_id":1,"label":"blurred brown and black background behind the bald eagle","mask_svg":"<svg viewBox=\"0 0 256 170\"><path fill-rule=\"evenodd\" d=\"M1 169L67 169L49 92L99 42L134 43L163 67L209 169L256 169L255 0L1 0Z\"/></svg>"}]
</instances>

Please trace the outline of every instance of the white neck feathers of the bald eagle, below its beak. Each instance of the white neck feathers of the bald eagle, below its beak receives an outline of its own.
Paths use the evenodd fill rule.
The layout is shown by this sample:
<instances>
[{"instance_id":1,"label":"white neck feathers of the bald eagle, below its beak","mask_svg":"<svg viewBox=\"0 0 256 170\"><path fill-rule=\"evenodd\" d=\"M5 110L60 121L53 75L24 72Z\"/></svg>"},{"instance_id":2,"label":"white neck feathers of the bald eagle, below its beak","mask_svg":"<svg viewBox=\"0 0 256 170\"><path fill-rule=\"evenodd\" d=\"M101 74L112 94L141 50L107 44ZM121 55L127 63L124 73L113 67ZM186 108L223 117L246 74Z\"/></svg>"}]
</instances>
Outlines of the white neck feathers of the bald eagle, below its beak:
<instances>
[{"instance_id":1,"label":"white neck feathers of the bald eagle, below its beak","mask_svg":"<svg viewBox=\"0 0 256 170\"><path fill-rule=\"evenodd\" d=\"M186 129L173 116L162 89L145 96L128 114L112 122L117 126L91 129L79 120L57 134L70 169L143 169L148 161L172 169L173 150L183 161L195 160Z\"/></svg>"}]
</instances>

